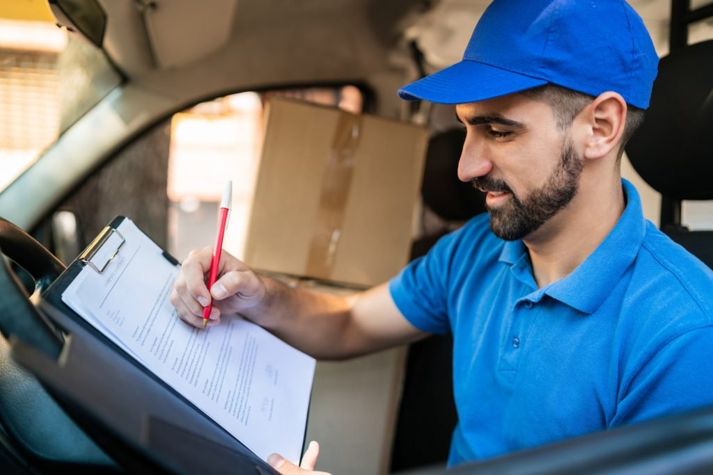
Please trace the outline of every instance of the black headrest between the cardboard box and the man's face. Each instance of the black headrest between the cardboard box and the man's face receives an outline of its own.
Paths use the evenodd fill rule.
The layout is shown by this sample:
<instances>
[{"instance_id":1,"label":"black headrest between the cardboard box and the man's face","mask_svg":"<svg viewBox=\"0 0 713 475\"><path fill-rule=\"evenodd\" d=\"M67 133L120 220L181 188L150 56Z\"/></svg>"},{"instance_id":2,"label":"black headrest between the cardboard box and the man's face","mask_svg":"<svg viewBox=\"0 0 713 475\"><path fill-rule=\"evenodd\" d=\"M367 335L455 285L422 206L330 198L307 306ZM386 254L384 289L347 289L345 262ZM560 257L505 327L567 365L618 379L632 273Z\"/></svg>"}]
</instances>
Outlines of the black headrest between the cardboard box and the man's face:
<instances>
[{"instance_id":1,"label":"black headrest between the cardboard box and the man's face","mask_svg":"<svg viewBox=\"0 0 713 475\"><path fill-rule=\"evenodd\" d=\"M449 221L465 221L485 211L485 195L458 179L458 161L465 141L465 130L439 132L431 137L426 154L421 186L424 203Z\"/></svg>"}]
</instances>

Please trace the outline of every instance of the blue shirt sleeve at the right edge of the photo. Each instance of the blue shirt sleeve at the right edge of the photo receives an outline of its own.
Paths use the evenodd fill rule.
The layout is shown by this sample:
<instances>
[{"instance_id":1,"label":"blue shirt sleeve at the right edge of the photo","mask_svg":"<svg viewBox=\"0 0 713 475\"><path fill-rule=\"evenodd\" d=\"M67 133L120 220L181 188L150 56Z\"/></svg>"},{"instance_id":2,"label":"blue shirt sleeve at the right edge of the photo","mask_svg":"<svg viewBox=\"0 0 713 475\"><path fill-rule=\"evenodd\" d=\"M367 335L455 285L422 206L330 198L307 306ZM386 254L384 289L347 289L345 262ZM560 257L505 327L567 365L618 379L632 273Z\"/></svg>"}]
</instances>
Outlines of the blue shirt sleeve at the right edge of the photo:
<instances>
[{"instance_id":1,"label":"blue shirt sleeve at the right edge of the photo","mask_svg":"<svg viewBox=\"0 0 713 475\"><path fill-rule=\"evenodd\" d=\"M661 348L622 387L610 426L713 404L713 327L687 331Z\"/></svg>"}]
</instances>

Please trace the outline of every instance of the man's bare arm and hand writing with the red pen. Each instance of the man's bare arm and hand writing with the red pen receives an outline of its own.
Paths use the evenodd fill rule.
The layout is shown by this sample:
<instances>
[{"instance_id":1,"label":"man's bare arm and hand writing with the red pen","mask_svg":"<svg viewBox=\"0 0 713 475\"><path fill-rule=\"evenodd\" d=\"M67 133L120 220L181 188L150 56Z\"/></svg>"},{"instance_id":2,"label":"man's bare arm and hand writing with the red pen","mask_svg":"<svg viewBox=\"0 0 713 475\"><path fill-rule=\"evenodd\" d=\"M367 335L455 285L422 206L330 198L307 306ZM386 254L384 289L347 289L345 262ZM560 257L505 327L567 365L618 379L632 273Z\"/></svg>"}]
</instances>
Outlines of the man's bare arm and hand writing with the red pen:
<instances>
[{"instance_id":1,"label":"man's bare arm and hand writing with the red pen","mask_svg":"<svg viewBox=\"0 0 713 475\"><path fill-rule=\"evenodd\" d=\"M212 298L210 325L220 315L240 313L319 359L364 355L426 335L396 308L386 283L348 298L289 288L223 252L209 292L204 278L211 256L210 246L193 251L171 293L178 315L191 325L202 326L203 308Z\"/></svg>"}]
</instances>

